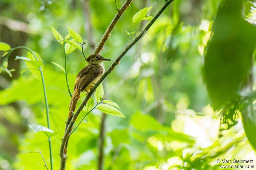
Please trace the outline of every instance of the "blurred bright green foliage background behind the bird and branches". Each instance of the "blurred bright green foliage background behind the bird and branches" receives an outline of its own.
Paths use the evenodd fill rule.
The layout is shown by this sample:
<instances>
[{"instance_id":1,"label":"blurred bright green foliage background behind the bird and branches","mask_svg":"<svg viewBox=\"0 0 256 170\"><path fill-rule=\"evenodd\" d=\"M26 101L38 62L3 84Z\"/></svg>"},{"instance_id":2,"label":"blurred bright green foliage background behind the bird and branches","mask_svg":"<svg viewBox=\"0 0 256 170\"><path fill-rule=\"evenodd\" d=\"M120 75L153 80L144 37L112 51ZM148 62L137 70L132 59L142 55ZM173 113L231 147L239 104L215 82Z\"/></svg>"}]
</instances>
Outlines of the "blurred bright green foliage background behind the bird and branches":
<instances>
[{"instance_id":1,"label":"blurred bright green foliage background behind the bird and branches","mask_svg":"<svg viewBox=\"0 0 256 170\"><path fill-rule=\"evenodd\" d=\"M235 126L223 130L220 111L211 107L204 83L204 47L220 2L174 0L105 79L106 99L116 102L126 118L106 117L103 169L220 169L217 159L256 161L240 116ZM123 3L117 0L119 8ZM100 54L114 60L127 44L125 31L131 30L132 16L146 6L153 6L149 15L154 16L163 4L164 0L132 2ZM252 24L254 7L253 1L244 1L244 16ZM63 47L51 26L63 37L67 26L74 28L87 40L85 55L89 56L115 16L115 8L114 0L0 1L0 41L12 48L27 46L43 60L50 124L56 132L52 137L54 169L60 164L70 96L65 74L51 63L64 67ZM148 22L135 26L132 39ZM50 166L47 136L28 128L29 124L47 127L47 121L41 80L29 71L21 75L26 65L14 60L25 55L26 51L15 51L8 60L8 69L15 69L12 77L0 75L0 169L4 170L46 169L41 155L31 151L42 151ZM1 65L2 61L3 57ZM68 55L71 89L86 64L79 50ZM105 62L105 68L110 64ZM94 110L87 117L89 123L82 123L72 134L67 169L98 169L101 118L102 113Z\"/></svg>"}]
</instances>

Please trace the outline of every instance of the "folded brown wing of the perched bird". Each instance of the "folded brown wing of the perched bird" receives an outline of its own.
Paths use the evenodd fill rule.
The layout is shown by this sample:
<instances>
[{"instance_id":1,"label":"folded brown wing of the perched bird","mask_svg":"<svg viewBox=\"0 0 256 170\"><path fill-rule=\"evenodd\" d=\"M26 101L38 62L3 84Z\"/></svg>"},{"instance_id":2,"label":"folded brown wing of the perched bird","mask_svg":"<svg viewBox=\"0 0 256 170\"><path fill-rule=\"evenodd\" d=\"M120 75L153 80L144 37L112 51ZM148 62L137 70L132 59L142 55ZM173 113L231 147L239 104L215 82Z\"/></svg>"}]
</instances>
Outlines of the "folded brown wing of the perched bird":
<instances>
[{"instance_id":1,"label":"folded brown wing of the perched bird","mask_svg":"<svg viewBox=\"0 0 256 170\"><path fill-rule=\"evenodd\" d=\"M85 88L90 85L95 78L102 74L102 69L97 67L96 69L90 68L86 71L78 80L76 88L78 89L78 93L83 92Z\"/></svg>"}]
</instances>

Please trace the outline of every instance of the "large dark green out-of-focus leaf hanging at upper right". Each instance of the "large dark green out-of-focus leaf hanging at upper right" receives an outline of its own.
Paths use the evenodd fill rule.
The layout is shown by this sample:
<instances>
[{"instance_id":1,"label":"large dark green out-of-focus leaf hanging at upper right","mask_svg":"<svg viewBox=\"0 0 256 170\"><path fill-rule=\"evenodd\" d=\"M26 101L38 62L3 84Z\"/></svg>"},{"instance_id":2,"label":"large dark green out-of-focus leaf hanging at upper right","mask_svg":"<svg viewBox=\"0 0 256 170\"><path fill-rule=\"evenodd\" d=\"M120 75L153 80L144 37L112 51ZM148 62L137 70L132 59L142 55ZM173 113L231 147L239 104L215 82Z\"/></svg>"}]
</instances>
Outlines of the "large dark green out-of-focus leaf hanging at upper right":
<instances>
[{"instance_id":1,"label":"large dark green out-of-focus leaf hanging at upper right","mask_svg":"<svg viewBox=\"0 0 256 170\"><path fill-rule=\"evenodd\" d=\"M242 18L242 11L243 0L222 0L213 22L204 78L215 109L236 98L252 67L256 28Z\"/></svg>"}]
</instances>

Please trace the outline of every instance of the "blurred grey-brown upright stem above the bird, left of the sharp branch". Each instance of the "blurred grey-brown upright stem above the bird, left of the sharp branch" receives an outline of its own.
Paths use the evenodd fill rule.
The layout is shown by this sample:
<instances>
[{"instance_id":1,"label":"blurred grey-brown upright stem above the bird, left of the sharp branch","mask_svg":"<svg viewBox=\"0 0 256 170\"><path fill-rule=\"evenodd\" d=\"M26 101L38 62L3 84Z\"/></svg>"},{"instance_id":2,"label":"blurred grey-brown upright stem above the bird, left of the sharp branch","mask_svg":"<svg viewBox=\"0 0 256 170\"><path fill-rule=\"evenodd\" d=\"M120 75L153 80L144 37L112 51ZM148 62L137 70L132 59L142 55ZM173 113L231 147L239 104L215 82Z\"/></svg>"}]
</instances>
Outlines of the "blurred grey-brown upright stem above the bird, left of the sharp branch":
<instances>
[{"instance_id":1,"label":"blurred grey-brown upright stem above the bird, left of the sharp branch","mask_svg":"<svg viewBox=\"0 0 256 170\"><path fill-rule=\"evenodd\" d=\"M95 49L95 43L94 43L94 38L93 38L93 29L92 29L92 22L90 18L90 7L89 7L89 0L84 0L83 1L83 6L84 6L84 18L85 18L85 28L86 28L86 34L88 37L90 49L93 52Z\"/></svg>"}]
</instances>

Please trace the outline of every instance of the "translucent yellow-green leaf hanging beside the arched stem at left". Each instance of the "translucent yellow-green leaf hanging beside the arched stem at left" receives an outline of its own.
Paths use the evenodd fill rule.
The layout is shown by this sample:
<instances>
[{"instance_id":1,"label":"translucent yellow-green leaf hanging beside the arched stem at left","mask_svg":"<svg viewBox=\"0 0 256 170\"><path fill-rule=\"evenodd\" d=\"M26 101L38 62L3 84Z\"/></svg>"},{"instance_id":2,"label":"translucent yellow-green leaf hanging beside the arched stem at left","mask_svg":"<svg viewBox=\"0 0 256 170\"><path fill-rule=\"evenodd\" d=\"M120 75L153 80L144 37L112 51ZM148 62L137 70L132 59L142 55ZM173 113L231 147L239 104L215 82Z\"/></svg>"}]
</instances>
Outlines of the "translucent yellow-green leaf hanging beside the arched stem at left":
<instances>
[{"instance_id":1,"label":"translucent yellow-green leaf hanging beside the arched stem at left","mask_svg":"<svg viewBox=\"0 0 256 170\"><path fill-rule=\"evenodd\" d=\"M38 61L42 62L40 55L38 53L36 53L35 51L33 51L33 52L36 55L36 57L38 58ZM37 61L36 58L30 52L27 53L26 57L30 59L30 61L25 60L25 62L26 62L26 66L29 69L29 71L31 72L32 76L41 80L41 73L40 73L40 71L38 71L38 65L40 65L40 63L36 62Z\"/></svg>"}]
</instances>

